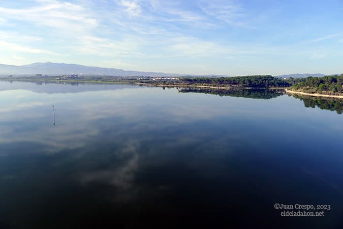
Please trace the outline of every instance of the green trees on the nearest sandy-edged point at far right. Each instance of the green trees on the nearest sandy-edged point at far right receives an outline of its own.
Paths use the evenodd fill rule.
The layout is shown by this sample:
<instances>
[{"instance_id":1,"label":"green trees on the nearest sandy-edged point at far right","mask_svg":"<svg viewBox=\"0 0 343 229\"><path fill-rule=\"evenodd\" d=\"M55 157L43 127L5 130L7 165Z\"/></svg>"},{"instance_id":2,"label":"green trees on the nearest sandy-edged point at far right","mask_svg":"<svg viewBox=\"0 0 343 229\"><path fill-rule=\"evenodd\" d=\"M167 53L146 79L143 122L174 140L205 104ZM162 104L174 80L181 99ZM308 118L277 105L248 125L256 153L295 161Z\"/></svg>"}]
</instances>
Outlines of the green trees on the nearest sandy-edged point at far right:
<instances>
[{"instance_id":1,"label":"green trees on the nearest sandy-edged point at far right","mask_svg":"<svg viewBox=\"0 0 343 229\"><path fill-rule=\"evenodd\" d=\"M343 74L323 77L309 76L295 83L292 90L306 93L339 95L343 91Z\"/></svg>"}]
</instances>

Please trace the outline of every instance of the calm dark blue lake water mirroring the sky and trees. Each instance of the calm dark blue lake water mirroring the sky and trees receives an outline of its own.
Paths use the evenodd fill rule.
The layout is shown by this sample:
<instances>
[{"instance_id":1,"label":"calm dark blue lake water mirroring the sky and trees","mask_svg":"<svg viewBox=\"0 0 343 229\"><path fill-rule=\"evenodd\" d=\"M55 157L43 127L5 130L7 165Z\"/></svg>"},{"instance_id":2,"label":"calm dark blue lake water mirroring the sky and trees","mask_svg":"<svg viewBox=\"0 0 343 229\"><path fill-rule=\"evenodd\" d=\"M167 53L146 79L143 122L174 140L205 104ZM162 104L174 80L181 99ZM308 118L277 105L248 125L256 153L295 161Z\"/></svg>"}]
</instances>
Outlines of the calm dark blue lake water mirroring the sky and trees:
<instances>
[{"instance_id":1,"label":"calm dark blue lake water mirroring the sky and trees","mask_svg":"<svg viewBox=\"0 0 343 229\"><path fill-rule=\"evenodd\" d=\"M0 228L343 227L341 100L205 93L0 81Z\"/></svg>"}]
</instances>

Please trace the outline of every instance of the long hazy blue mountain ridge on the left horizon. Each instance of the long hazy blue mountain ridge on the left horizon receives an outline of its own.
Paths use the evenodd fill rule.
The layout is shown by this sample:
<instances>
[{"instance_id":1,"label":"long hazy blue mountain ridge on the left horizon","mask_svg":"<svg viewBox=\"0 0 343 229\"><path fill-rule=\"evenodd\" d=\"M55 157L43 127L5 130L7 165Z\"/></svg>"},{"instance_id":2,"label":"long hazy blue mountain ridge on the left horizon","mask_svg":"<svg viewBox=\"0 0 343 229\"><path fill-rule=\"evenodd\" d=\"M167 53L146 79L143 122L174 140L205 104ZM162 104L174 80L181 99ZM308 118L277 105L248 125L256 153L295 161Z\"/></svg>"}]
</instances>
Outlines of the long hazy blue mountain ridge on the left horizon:
<instances>
[{"instance_id":1,"label":"long hazy blue mountain ridge on the left horizon","mask_svg":"<svg viewBox=\"0 0 343 229\"><path fill-rule=\"evenodd\" d=\"M2 65L0 64L0 75L65 75L65 74L84 74L84 75L107 75L107 76L182 76L180 74L163 72L140 72L126 71L115 68L89 67L77 64L64 63L34 63L29 65ZM190 75L199 76L199 75ZM205 76L205 75L204 75ZM206 75L209 76L209 75ZM212 76L212 75L211 75ZM222 75L213 75L222 76Z\"/></svg>"}]
</instances>

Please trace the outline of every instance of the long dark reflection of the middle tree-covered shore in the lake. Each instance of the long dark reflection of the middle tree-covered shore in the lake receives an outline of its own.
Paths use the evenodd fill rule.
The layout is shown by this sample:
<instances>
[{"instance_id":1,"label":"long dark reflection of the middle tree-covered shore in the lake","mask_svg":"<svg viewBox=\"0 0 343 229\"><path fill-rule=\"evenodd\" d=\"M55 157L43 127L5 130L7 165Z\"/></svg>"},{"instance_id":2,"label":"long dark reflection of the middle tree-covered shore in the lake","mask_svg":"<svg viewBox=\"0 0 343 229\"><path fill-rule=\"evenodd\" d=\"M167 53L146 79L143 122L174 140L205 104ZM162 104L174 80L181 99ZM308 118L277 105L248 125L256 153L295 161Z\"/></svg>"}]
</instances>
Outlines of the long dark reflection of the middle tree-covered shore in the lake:
<instances>
[{"instance_id":1,"label":"long dark reflection of the middle tree-covered shore in the lake","mask_svg":"<svg viewBox=\"0 0 343 229\"><path fill-rule=\"evenodd\" d=\"M277 96L285 94L283 90L256 90L256 89L232 89L232 90L223 90L223 89L201 89L201 88L181 88L179 92L187 93L204 93L212 94L219 96L233 96L233 97L244 97L252 99L271 99L276 98Z\"/></svg>"}]
</instances>

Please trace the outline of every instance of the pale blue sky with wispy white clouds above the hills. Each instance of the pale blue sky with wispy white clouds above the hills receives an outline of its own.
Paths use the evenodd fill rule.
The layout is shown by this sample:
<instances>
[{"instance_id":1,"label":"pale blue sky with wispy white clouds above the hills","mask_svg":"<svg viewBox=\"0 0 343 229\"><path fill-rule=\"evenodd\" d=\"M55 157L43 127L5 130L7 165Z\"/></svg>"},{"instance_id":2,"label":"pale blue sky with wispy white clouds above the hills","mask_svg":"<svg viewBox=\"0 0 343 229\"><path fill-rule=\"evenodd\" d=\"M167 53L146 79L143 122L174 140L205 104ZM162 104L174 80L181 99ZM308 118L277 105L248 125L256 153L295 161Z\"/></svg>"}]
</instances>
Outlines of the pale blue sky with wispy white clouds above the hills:
<instances>
[{"instance_id":1,"label":"pale blue sky with wispy white clouds above the hills","mask_svg":"<svg viewBox=\"0 0 343 229\"><path fill-rule=\"evenodd\" d=\"M343 73L343 2L0 0L0 63Z\"/></svg>"}]
</instances>

